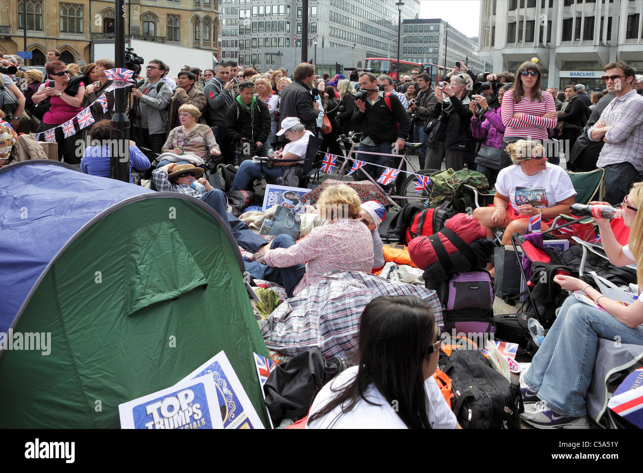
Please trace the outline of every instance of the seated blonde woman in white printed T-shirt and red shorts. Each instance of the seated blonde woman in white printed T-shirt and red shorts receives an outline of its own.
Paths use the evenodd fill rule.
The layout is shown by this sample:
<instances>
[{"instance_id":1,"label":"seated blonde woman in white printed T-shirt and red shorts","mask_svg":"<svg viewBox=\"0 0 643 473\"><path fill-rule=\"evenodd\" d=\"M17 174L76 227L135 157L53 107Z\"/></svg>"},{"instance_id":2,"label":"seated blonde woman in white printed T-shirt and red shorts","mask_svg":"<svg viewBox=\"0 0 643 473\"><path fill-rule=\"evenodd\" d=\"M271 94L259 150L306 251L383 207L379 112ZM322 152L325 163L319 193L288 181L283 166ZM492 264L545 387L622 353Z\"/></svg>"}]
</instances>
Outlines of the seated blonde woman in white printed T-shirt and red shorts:
<instances>
[{"instance_id":1,"label":"seated blonde woman in white printed T-shirt and red shorts","mask_svg":"<svg viewBox=\"0 0 643 473\"><path fill-rule=\"evenodd\" d=\"M506 151L514 165L498 173L494 207L475 209L473 216L488 237L493 237L492 228L506 228L502 244L510 245L512 234L525 234L534 215L541 214L541 228L547 230L552 219L569 212L576 191L565 170L547 162L545 148L539 142L518 140L508 144Z\"/></svg>"}]
</instances>

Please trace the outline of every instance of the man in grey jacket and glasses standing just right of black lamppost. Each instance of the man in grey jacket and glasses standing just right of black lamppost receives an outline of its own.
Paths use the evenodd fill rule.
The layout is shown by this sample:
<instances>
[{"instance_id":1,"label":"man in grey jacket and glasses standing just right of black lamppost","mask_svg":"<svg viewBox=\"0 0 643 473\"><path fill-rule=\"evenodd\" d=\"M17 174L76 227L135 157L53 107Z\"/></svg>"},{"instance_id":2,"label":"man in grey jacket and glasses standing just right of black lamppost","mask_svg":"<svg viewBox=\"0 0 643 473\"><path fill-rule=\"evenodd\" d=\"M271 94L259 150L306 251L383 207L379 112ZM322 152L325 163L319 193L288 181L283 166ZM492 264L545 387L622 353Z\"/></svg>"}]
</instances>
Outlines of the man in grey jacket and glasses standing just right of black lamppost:
<instances>
[{"instance_id":1,"label":"man in grey jacket and glasses standing just right of black lamppost","mask_svg":"<svg viewBox=\"0 0 643 473\"><path fill-rule=\"evenodd\" d=\"M132 95L138 98L140 126L132 123L134 141L139 146L161 153L167 135L167 106L172 98L172 89L163 82L168 70L165 62L150 60L145 68L147 79L140 88L132 88Z\"/></svg>"}]
</instances>

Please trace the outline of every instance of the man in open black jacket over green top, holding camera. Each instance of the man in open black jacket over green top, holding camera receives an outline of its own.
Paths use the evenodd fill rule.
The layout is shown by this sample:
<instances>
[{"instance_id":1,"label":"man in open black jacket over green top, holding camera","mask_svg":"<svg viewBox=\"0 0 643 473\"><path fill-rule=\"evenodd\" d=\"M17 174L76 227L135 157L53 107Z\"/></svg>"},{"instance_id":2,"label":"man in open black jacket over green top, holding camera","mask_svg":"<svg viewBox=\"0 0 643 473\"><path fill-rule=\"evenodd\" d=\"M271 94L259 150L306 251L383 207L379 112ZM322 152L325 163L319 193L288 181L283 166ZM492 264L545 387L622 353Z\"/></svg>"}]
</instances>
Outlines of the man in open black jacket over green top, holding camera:
<instances>
[{"instance_id":1,"label":"man in open black jacket over green top, holding camera","mask_svg":"<svg viewBox=\"0 0 643 473\"><path fill-rule=\"evenodd\" d=\"M255 84L244 80L239 84L239 96L226 114L226 135L237 144L242 160L267 156L270 144L270 113L266 102L255 95ZM239 162L240 164L240 162Z\"/></svg>"}]
</instances>

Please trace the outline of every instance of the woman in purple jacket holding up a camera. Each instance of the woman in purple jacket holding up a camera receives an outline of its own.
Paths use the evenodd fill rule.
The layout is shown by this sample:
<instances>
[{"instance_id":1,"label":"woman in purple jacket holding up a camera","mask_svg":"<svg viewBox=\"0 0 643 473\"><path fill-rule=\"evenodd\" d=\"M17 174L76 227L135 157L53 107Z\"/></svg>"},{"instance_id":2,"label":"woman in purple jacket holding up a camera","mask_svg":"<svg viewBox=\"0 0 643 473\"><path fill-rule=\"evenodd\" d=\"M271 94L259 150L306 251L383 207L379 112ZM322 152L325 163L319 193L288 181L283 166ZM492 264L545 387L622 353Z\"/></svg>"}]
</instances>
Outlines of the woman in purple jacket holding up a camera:
<instances>
[{"instance_id":1,"label":"woman in purple jacket holding up a camera","mask_svg":"<svg viewBox=\"0 0 643 473\"><path fill-rule=\"evenodd\" d=\"M484 174L489 180L489 187L493 187L500 172L500 150L502 149L502 138L505 134L505 125L500 119L500 109L502 109L502 96L507 90L511 89L511 84L502 86L498 91L498 102L500 107L497 110L487 105L487 99L484 95L474 95L473 101L469 103L469 108L473 111L471 117L471 134L473 138L484 140L484 146L481 147L476 156L476 171ZM480 106L480 108L478 108ZM493 149L491 149L493 148ZM498 150L497 152L494 150Z\"/></svg>"}]
</instances>

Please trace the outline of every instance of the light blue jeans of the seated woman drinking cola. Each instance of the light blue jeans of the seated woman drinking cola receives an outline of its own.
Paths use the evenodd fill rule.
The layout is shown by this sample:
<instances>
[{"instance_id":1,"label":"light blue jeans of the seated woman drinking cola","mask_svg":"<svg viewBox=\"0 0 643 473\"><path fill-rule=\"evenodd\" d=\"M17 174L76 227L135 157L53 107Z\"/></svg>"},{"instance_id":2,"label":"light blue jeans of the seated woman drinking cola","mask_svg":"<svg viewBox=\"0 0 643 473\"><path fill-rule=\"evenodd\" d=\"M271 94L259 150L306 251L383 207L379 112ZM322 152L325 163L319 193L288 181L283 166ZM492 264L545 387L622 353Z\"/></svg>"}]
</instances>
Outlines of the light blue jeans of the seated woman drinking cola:
<instances>
[{"instance_id":1,"label":"light blue jeans of the seated woman drinking cola","mask_svg":"<svg viewBox=\"0 0 643 473\"><path fill-rule=\"evenodd\" d=\"M525 374L529 387L554 411L572 417L586 414L584 398L599 337L643 345L643 327L629 328L610 314L568 297Z\"/></svg>"}]
</instances>

